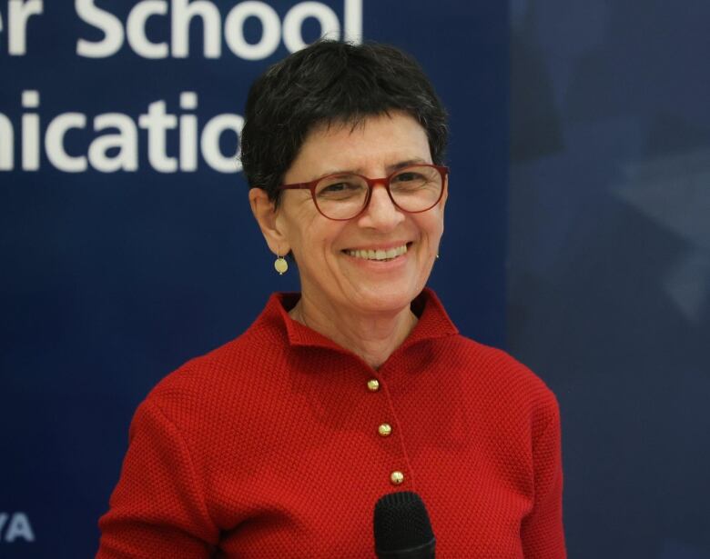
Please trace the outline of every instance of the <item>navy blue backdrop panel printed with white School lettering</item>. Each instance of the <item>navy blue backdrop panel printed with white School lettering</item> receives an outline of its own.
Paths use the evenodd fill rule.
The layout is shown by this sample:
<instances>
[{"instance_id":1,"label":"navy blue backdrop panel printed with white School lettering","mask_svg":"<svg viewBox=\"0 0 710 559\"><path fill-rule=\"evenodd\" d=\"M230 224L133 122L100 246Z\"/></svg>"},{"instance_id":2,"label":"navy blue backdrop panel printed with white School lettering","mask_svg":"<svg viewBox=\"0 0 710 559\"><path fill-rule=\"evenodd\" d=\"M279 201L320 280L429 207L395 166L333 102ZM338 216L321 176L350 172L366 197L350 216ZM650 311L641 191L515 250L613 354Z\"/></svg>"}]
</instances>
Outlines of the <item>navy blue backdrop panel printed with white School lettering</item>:
<instances>
[{"instance_id":1,"label":"navy blue backdrop panel printed with white School lettering","mask_svg":"<svg viewBox=\"0 0 710 559\"><path fill-rule=\"evenodd\" d=\"M0 2L2 557L92 556L138 402L298 288L234 155L249 84L322 31L399 45L437 85L453 171L431 284L503 343L507 6L195 5L188 25L185 0Z\"/></svg>"}]
</instances>

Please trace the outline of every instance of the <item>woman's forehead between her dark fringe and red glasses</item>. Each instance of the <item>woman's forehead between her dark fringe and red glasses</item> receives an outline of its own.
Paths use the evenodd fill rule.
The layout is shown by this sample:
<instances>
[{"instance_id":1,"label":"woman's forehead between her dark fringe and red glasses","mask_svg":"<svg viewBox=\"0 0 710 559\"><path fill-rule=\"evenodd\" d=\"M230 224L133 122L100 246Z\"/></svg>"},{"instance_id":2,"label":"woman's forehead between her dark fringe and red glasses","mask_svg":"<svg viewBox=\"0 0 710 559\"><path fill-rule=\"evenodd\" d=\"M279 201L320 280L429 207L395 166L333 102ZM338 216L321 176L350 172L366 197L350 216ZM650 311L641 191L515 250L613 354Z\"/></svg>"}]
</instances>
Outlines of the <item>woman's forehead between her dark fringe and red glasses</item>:
<instances>
[{"instance_id":1,"label":"woman's forehead between her dark fringe and red glasses","mask_svg":"<svg viewBox=\"0 0 710 559\"><path fill-rule=\"evenodd\" d=\"M397 111L317 126L301 145L287 176L305 180L340 171L375 173L412 160L431 163L429 140L411 115Z\"/></svg>"}]
</instances>

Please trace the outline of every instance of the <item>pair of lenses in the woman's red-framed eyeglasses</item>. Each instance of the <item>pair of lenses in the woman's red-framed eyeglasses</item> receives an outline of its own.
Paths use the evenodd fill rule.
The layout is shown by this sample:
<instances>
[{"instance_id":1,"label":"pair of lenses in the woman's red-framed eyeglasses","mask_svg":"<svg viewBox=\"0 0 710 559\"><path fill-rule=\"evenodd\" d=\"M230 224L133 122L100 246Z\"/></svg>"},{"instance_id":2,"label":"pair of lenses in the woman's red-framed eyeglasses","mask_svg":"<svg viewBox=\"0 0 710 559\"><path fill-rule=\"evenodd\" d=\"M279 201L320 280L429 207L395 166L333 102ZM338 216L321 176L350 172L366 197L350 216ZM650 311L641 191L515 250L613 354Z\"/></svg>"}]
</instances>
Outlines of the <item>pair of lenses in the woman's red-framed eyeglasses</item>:
<instances>
[{"instance_id":1,"label":"pair of lenses in the woman's red-framed eyeglasses","mask_svg":"<svg viewBox=\"0 0 710 559\"><path fill-rule=\"evenodd\" d=\"M390 193L395 205L405 212L423 212L441 196L441 173L430 166L405 167L390 177ZM368 197L367 181L358 175L330 175L315 188L320 212L332 219L348 219L360 214Z\"/></svg>"}]
</instances>

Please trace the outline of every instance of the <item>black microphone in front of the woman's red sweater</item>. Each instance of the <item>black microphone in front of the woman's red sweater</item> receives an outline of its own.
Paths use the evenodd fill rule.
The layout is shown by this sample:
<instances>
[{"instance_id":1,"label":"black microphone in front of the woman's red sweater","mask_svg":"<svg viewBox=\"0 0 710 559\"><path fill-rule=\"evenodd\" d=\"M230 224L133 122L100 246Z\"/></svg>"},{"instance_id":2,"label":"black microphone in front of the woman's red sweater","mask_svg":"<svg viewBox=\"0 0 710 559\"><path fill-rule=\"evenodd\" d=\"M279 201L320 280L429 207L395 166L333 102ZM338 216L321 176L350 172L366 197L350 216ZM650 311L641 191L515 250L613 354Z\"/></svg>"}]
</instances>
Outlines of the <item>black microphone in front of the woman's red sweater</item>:
<instances>
[{"instance_id":1,"label":"black microphone in front of the woman's red sweater","mask_svg":"<svg viewBox=\"0 0 710 559\"><path fill-rule=\"evenodd\" d=\"M373 526L379 559L434 559L436 538L418 494L399 491L381 496Z\"/></svg>"}]
</instances>

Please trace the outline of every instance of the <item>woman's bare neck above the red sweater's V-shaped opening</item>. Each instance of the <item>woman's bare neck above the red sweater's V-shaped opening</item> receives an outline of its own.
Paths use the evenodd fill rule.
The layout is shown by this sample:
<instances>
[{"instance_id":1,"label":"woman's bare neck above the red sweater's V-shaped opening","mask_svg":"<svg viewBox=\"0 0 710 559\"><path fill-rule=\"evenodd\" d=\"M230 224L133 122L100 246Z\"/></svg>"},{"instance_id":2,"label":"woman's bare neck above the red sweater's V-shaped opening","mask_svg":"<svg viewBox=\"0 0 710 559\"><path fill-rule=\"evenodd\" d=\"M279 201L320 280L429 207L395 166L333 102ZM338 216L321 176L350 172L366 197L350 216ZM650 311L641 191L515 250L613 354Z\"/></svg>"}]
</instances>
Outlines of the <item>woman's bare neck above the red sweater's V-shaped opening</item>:
<instances>
[{"instance_id":1,"label":"woman's bare neck above the red sweater's V-shaped opening","mask_svg":"<svg viewBox=\"0 0 710 559\"><path fill-rule=\"evenodd\" d=\"M409 306L391 313L358 314L324 308L306 294L301 294L289 316L359 355L373 369L387 361L417 324Z\"/></svg>"}]
</instances>

